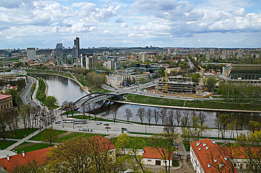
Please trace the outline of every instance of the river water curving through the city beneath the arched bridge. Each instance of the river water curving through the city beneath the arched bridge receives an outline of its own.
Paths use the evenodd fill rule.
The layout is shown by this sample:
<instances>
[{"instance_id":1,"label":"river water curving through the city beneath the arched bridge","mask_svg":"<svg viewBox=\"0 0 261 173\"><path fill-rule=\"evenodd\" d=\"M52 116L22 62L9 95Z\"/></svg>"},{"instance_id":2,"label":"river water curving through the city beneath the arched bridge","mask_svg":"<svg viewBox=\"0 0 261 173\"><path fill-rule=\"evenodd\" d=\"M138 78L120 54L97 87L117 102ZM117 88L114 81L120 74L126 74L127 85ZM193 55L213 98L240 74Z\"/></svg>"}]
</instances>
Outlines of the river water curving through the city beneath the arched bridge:
<instances>
[{"instance_id":1,"label":"river water curving through the city beneath the arched bridge","mask_svg":"<svg viewBox=\"0 0 261 173\"><path fill-rule=\"evenodd\" d=\"M53 95L57 98L58 103L62 104L63 101L76 101L78 98L82 97L86 93L84 91L80 90L80 86L74 82L73 80L70 80L65 77L60 76L54 76L54 75L33 75L36 77L43 78L46 83L48 84L48 95ZM96 112L100 116L110 117L112 118L112 107L118 107L118 113L117 113L117 119L126 120L125 117L125 109L129 108L132 112L132 117L130 118L130 121L137 121L140 122L139 118L136 117L136 113L138 108L145 108L147 109L156 109L157 111L160 111L162 108L158 107L150 107L150 106L139 106L139 105L132 105L132 104L122 104L122 103L116 103L112 101L101 101L99 103L96 103ZM167 109L168 111L169 109ZM181 110L183 112L183 110ZM190 113L192 113L191 110L189 110ZM199 111L195 111L196 113L199 113ZM217 115L219 114L225 114L225 112L213 112L213 111L202 111L206 115L206 122L205 124L208 125L210 128L215 127L215 119ZM238 119L241 119L244 122L243 128L246 128L246 123L252 118L255 118L257 116L260 118L260 114L246 114L246 113L227 113L227 114L233 114ZM147 123L148 121L144 119L144 123ZM151 123L155 123L155 120L152 118ZM161 124L161 120L159 120L159 123Z\"/></svg>"}]
</instances>

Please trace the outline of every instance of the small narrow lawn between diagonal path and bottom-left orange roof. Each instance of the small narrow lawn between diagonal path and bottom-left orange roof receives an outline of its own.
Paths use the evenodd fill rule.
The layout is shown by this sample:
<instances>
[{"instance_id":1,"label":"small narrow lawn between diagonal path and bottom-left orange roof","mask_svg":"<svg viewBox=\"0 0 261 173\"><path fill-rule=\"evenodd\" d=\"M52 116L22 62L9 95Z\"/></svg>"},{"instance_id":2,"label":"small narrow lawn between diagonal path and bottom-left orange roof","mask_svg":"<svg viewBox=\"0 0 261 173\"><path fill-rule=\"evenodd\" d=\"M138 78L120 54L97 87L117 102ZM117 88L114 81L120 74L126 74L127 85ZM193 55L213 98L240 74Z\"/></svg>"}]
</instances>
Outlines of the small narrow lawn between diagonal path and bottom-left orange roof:
<instances>
[{"instance_id":1,"label":"small narrow lawn between diagonal path and bottom-left orange roof","mask_svg":"<svg viewBox=\"0 0 261 173\"><path fill-rule=\"evenodd\" d=\"M52 146L54 146L54 145L52 145ZM29 152L29 151L35 151L35 150L39 150L39 149L47 148L47 147L50 147L50 144L24 142L24 143L18 145L17 147L15 147L14 150L17 151L18 154L20 154L20 153L22 153L22 151Z\"/></svg>"}]
</instances>

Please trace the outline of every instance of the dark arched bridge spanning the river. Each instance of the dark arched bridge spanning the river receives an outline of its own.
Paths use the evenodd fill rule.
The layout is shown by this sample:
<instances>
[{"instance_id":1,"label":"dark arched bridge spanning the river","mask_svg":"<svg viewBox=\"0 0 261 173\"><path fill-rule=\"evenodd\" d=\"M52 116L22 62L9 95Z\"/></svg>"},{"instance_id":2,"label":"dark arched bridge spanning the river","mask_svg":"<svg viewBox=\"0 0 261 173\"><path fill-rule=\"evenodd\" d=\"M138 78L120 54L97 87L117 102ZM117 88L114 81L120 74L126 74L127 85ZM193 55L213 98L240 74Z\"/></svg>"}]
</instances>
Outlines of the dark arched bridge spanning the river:
<instances>
[{"instance_id":1,"label":"dark arched bridge spanning the river","mask_svg":"<svg viewBox=\"0 0 261 173\"><path fill-rule=\"evenodd\" d=\"M76 100L74 102L75 109L78 109L83 105L102 101L102 100L107 99L107 98L111 98L111 99L114 99L114 100L125 100L125 98L122 96L124 94L125 93L115 94L115 93L92 92L92 93L86 94L86 95L82 96L81 98L79 98L78 100Z\"/></svg>"}]
</instances>

